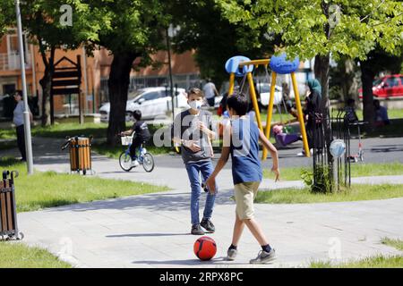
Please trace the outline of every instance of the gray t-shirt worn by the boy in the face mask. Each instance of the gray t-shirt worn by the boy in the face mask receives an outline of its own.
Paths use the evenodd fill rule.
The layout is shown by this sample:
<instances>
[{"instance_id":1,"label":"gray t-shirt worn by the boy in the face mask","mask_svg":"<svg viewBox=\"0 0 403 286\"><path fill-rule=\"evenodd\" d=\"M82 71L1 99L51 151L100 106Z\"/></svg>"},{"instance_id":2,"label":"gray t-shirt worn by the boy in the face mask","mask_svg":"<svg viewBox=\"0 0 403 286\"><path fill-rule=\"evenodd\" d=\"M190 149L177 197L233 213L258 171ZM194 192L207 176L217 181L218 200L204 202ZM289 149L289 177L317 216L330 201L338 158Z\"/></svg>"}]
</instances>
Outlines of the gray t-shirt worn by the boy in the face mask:
<instances>
[{"instance_id":1,"label":"gray t-shirt worn by the boy in the face mask","mask_svg":"<svg viewBox=\"0 0 403 286\"><path fill-rule=\"evenodd\" d=\"M199 130L198 122L203 122L207 128L212 130L211 114L208 111L201 110L198 115L192 115L189 110L185 110L176 115L173 136L184 140L194 140L201 147L199 152L193 152L182 145L181 153L184 164L209 161L211 159L212 147L210 139Z\"/></svg>"}]
</instances>

